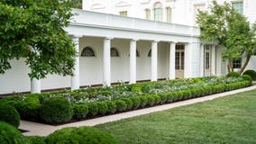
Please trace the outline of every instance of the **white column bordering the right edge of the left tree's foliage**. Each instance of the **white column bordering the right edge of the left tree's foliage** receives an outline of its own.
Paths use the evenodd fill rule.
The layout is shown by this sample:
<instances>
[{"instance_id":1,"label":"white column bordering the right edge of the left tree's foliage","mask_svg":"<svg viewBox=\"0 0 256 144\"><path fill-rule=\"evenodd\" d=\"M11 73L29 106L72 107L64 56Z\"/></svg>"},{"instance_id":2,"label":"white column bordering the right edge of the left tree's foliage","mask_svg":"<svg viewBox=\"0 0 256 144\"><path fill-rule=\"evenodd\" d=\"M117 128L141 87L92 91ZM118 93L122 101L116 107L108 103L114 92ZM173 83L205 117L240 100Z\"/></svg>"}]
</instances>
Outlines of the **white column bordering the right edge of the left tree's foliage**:
<instances>
[{"instance_id":1,"label":"white column bordering the right edge of the left tree's foliage","mask_svg":"<svg viewBox=\"0 0 256 144\"><path fill-rule=\"evenodd\" d=\"M80 88L80 76L79 76L79 38L74 37L73 42L75 43L75 49L77 55L75 57L75 66L73 71L73 76L71 76L71 90L76 90Z\"/></svg>"}]
</instances>

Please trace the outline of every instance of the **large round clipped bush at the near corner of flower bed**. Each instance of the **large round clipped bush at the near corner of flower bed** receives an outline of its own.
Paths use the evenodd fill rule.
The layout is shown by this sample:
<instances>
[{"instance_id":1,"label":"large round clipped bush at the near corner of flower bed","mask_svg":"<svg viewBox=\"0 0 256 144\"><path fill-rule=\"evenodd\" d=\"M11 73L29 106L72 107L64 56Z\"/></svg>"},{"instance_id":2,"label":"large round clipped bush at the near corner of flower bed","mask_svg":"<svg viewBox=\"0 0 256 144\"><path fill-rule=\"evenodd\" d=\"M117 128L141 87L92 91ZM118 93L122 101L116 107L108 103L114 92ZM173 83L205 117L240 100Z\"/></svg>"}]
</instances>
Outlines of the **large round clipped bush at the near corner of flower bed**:
<instances>
[{"instance_id":1,"label":"large round clipped bush at the near corner of flower bed","mask_svg":"<svg viewBox=\"0 0 256 144\"><path fill-rule=\"evenodd\" d=\"M71 120L73 109L63 97L52 97L41 104L40 117L47 123L61 123Z\"/></svg>"}]
</instances>

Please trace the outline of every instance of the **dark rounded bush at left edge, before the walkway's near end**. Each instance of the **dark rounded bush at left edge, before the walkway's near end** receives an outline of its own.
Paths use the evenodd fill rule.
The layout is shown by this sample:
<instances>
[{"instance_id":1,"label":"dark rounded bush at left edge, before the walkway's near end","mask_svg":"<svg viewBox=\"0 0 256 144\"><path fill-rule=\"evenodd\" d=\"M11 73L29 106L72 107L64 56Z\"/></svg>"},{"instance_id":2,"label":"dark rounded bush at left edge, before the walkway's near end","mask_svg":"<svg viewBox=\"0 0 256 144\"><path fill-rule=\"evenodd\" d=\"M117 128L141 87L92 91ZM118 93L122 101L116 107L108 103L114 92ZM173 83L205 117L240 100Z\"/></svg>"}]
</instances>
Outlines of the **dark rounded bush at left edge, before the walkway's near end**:
<instances>
[{"instance_id":1,"label":"dark rounded bush at left edge, before the walkway's near end","mask_svg":"<svg viewBox=\"0 0 256 144\"><path fill-rule=\"evenodd\" d=\"M15 128L20 125L20 114L14 109L13 106L0 103L0 121L5 121Z\"/></svg>"}]
</instances>

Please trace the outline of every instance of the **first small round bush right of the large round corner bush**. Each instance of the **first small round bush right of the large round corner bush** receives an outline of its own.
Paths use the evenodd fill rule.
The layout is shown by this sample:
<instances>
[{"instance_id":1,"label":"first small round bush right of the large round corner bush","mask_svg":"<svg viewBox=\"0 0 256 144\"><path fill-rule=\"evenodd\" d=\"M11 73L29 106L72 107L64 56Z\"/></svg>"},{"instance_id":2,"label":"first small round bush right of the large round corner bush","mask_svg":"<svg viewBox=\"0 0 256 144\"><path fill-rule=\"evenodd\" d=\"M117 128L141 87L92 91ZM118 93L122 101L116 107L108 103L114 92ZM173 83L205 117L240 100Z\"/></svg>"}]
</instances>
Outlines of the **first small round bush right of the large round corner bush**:
<instances>
[{"instance_id":1,"label":"first small round bush right of the large round corner bush","mask_svg":"<svg viewBox=\"0 0 256 144\"><path fill-rule=\"evenodd\" d=\"M83 119L87 117L88 107L87 104L75 104L73 106L74 117Z\"/></svg>"}]
</instances>

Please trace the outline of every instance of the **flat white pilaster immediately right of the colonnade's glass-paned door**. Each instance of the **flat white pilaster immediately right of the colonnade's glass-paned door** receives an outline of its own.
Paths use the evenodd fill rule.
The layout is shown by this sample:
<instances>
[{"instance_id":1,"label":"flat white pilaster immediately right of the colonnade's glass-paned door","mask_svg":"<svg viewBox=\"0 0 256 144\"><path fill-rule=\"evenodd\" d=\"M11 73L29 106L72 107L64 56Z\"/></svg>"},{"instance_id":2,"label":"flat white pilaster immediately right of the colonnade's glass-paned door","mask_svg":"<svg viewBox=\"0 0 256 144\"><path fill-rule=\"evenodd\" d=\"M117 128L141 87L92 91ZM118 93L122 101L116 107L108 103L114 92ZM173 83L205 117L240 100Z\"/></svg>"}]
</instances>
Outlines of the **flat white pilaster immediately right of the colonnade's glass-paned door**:
<instances>
[{"instance_id":1,"label":"flat white pilaster immediately right of the colonnade's glass-paned door","mask_svg":"<svg viewBox=\"0 0 256 144\"><path fill-rule=\"evenodd\" d=\"M192 42L187 43L185 45L185 61L184 61L184 77L188 78L191 77L191 65L192 65L192 59L191 59L191 55L192 55Z\"/></svg>"}]
</instances>

